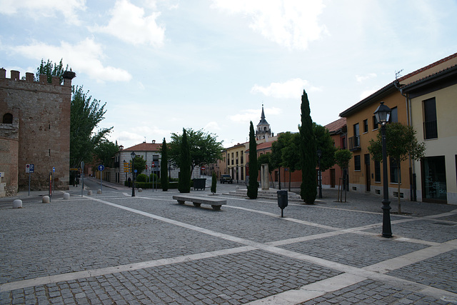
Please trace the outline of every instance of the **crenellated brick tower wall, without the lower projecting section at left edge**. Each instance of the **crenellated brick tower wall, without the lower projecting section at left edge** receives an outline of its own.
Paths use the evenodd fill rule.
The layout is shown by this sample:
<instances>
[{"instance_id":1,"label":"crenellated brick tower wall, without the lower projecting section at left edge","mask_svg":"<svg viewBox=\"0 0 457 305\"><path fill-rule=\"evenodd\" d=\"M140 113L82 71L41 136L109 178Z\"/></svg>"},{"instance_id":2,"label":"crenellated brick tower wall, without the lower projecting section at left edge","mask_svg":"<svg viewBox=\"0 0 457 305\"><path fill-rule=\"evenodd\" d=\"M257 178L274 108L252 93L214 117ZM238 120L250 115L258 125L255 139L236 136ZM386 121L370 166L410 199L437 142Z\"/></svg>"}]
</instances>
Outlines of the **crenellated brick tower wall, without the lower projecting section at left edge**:
<instances>
[{"instance_id":1,"label":"crenellated brick tower wall, without the lower projecting section at left edge","mask_svg":"<svg viewBox=\"0 0 457 305\"><path fill-rule=\"evenodd\" d=\"M26 74L26 80L21 80L19 71L11 71L11 79L6 79L4 69L0 69L0 116L19 110L16 111L19 116L19 190L29 187L26 164L35 165L35 172L31 174L32 190L49 187L49 172L53 166L56 189L69 188L70 104L71 81L60 85L59 79L54 77L52 84L48 84L44 76L35 82L31 73Z\"/></svg>"}]
</instances>

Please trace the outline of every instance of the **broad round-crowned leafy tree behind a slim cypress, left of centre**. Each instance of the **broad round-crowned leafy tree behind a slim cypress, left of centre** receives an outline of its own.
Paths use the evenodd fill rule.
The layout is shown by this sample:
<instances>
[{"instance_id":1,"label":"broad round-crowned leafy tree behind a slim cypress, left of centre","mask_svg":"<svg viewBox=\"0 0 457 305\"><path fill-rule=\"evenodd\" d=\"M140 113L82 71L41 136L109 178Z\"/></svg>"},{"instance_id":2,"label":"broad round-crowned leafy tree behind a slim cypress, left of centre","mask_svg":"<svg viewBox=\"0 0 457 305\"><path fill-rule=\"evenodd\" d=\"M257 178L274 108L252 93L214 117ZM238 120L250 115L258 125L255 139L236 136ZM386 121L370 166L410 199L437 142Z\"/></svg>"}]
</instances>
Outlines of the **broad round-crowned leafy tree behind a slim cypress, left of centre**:
<instances>
[{"instance_id":1,"label":"broad round-crowned leafy tree behind a slim cypress, left of centre","mask_svg":"<svg viewBox=\"0 0 457 305\"><path fill-rule=\"evenodd\" d=\"M187 138L189 141L189 153L191 156L191 176L195 166L201 164L216 163L222 159L222 142L217 141L217 136L204 132L203 129L194 131L194 129L186 129ZM179 159L181 156L181 142L184 134L171 134L171 142L169 144L169 159L174 161L180 168Z\"/></svg>"}]
</instances>

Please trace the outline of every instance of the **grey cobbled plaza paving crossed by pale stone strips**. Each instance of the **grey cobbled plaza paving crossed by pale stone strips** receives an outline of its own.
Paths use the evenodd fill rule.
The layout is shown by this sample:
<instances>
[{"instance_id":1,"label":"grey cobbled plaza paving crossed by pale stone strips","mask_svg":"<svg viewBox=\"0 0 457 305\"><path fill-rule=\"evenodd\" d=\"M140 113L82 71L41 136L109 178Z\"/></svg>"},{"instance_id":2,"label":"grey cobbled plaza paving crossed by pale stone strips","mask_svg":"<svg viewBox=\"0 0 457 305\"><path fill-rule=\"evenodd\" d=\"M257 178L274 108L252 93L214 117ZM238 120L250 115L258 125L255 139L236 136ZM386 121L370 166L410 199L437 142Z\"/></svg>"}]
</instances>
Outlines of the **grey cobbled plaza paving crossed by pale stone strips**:
<instances>
[{"instance_id":1,"label":"grey cobbled plaza paving crossed by pale stone strips","mask_svg":"<svg viewBox=\"0 0 457 305\"><path fill-rule=\"evenodd\" d=\"M0 304L457 304L457 206L402 201L384 239L380 197L324 190L281 218L223 194L214 211L174 190L70 192L0 201Z\"/></svg>"}]
</instances>

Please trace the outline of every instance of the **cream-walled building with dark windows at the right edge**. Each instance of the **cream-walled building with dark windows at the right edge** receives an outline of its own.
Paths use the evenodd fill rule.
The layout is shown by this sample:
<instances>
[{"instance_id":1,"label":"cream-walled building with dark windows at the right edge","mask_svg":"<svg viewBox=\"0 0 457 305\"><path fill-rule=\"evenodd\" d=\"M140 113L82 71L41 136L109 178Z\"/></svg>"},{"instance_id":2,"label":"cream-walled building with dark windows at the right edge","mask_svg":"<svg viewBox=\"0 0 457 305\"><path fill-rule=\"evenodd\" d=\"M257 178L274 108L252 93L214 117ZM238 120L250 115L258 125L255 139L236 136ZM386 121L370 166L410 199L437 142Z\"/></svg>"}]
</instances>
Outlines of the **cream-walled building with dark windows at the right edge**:
<instances>
[{"instance_id":1,"label":"cream-walled building with dark windows at the right edge","mask_svg":"<svg viewBox=\"0 0 457 305\"><path fill-rule=\"evenodd\" d=\"M411 104L411 125L426 144L415 161L419 201L457 204L457 65L401 89Z\"/></svg>"}]
</instances>

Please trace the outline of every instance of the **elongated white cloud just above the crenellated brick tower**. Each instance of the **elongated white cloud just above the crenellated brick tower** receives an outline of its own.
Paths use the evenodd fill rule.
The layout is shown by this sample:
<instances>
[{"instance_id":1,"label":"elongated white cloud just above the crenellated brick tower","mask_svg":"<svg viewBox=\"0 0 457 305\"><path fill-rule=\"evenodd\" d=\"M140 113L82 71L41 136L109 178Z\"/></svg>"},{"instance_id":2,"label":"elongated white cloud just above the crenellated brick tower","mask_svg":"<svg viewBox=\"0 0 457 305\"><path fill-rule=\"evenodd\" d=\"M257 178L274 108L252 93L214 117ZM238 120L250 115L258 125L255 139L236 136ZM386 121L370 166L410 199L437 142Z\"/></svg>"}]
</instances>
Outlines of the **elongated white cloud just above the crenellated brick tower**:
<instances>
[{"instance_id":1,"label":"elongated white cloud just above the crenellated brick tower","mask_svg":"<svg viewBox=\"0 0 457 305\"><path fill-rule=\"evenodd\" d=\"M28 46L16 46L14 50L30 59L51 59L59 62L64 58L66 64L71 66L76 75L85 73L97 81L129 81L131 79L128 71L113 66L104 66L101 63L101 59L104 57L103 49L100 44L94 42L94 39L86 38L74 45L61 41L60 46L34 41Z\"/></svg>"}]
</instances>

